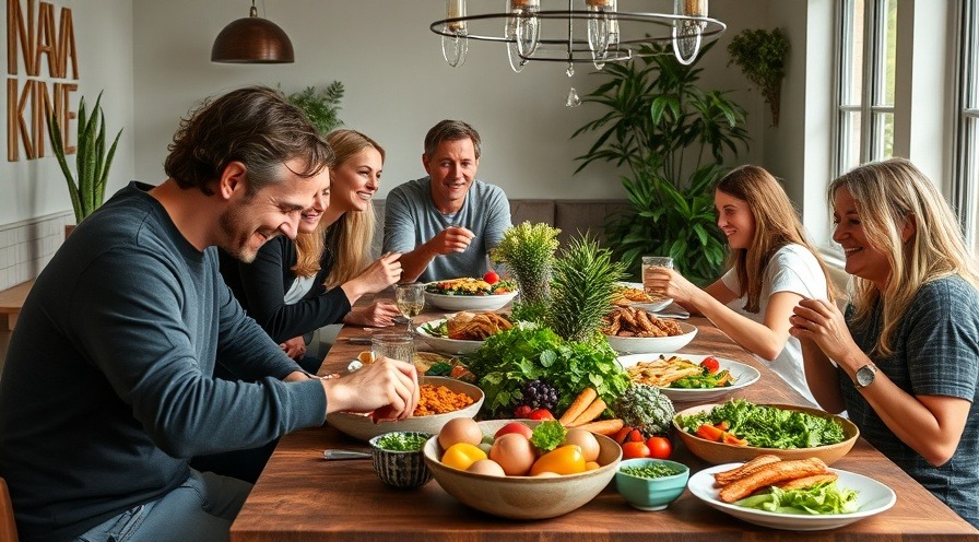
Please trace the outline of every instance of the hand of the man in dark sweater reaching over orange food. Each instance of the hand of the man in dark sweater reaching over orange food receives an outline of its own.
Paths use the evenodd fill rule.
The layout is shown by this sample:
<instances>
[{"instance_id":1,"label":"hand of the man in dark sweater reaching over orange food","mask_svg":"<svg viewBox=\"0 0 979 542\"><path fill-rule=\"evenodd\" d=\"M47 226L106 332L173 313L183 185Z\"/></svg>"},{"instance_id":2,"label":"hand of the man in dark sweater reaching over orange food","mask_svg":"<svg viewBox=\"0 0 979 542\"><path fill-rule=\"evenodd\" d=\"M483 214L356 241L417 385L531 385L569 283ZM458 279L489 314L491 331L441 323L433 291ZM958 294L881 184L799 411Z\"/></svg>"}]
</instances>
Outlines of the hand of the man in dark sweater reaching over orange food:
<instances>
[{"instance_id":1,"label":"hand of the man in dark sweater reaching over orange food","mask_svg":"<svg viewBox=\"0 0 979 542\"><path fill-rule=\"evenodd\" d=\"M364 412L375 421L404 420L418 404L418 373L409 362L381 357L343 378L322 384L327 414Z\"/></svg>"}]
</instances>

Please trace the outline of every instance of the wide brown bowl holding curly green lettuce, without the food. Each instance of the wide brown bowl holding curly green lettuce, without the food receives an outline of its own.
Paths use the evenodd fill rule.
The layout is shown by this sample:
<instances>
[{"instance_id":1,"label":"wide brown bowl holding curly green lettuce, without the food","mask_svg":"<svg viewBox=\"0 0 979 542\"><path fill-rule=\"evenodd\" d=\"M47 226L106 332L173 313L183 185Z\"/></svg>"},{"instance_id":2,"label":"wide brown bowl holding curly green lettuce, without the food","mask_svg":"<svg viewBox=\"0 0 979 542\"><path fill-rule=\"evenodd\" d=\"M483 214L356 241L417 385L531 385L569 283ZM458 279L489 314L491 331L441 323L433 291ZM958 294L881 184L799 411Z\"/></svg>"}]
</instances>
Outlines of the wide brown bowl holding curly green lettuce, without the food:
<instances>
[{"instance_id":1,"label":"wide brown bowl holding curly green lettuce, without the food","mask_svg":"<svg viewBox=\"0 0 979 542\"><path fill-rule=\"evenodd\" d=\"M691 452L693 452L694 456L697 456L698 458L711 464L733 463L739 461L746 462L766 453L779 457L783 460L807 459L811 457L817 457L822 459L826 464L833 464L839 458L846 456L847 452L850 451L850 448L852 448L853 444L857 443L857 437L860 436L860 429L857 428L856 425L853 425L853 422L845 417L830 414L819 409L810 406L798 406L793 404L769 404L768 406L776 406L778 409L786 410L798 410L816 416L831 417L844 426L844 434L846 435L847 439L842 443L831 444L827 446L816 446L813 448L758 448L754 446L734 446L724 443L715 443L705 438L700 438L696 435L691 435L689 433L683 431L683 428L680 426L680 416L688 416L691 414L711 410L715 406L717 406L717 404L700 404L680 411L675 416L673 416L673 427L676 429L676 434L680 435L680 439L683 441L683 444L687 447L687 449L691 450Z\"/></svg>"}]
</instances>

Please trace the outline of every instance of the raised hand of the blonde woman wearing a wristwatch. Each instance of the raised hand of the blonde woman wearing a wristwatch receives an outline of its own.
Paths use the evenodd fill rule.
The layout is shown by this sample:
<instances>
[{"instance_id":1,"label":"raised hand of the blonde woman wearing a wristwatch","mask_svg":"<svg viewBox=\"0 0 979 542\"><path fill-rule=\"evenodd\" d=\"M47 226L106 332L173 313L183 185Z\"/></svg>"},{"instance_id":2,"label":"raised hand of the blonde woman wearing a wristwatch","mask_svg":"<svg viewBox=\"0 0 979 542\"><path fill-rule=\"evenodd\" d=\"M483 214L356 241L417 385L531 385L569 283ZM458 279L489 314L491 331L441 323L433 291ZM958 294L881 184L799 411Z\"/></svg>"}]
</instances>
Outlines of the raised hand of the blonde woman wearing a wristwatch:
<instances>
[{"instance_id":1,"label":"raised hand of the blonde woman wearing a wristwatch","mask_svg":"<svg viewBox=\"0 0 979 542\"><path fill-rule=\"evenodd\" d=\"M802 299L789 317L789 334L799 340L813 341L830 360L846 364L846 358L863 352L853 341L847 321L835 303L826 299ZM851 370L851 373L852 373Z\"/></svg>"}]
</instances>

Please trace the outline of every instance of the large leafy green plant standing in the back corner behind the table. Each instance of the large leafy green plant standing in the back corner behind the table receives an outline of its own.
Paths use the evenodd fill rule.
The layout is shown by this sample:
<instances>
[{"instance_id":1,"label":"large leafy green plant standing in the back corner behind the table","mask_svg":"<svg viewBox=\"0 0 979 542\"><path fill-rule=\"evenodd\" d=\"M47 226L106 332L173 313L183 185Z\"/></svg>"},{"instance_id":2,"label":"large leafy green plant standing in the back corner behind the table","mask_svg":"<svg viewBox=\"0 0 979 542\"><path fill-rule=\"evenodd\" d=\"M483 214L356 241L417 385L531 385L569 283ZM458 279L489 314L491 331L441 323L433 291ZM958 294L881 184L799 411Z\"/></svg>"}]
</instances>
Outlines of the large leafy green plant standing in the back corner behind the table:
<instances>
[{"instance_id":1,"label":"large leafy green plant standing in the back corner behind the table","mask_svg":"<svg viewBox=\"0 0 979 542\"><path fill-rule=\"evenodd\" d=\"M608 79L583 102L603 113L573 137L595 132L578 156L583 169L594 161L626 166L622 177L630 212L611 216L605 236L633 276L645 255L670 256L691 281L717 278L726 248L715 222L712 187L726 172L724 152L747 145L745 110L727 92L697 86L697 61L683 66L662 46L645 46L637 59L608 63Z\"/></svg>"}]
</instances>

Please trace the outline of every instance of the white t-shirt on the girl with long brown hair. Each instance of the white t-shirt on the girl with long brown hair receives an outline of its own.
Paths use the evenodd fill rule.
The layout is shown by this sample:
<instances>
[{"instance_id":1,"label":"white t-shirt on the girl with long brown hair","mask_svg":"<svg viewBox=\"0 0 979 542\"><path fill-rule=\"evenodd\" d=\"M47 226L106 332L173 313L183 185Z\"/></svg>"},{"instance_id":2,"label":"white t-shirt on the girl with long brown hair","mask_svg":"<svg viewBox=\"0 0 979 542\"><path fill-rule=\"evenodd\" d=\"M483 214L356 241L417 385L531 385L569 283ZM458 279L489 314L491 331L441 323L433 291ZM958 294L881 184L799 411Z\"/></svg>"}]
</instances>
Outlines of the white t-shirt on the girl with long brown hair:
<instances>
[{"instance_id":1,"label":"white t-shirt on the girl with long brown hair","mask_svg":"<svg viewBox=\"0 0 979 542\"><path fill-rule=\"evenodd\" d=\"M738 274L733 269L728 270L721 278L724 286L731 292L740 292ZM765 322L765 313L768 309L768 298L778 292L793 292L803 297L826 299L826 275L819 267L818 260L802 245L786 245L780 248L768 261L762 279L762 292L758 296L758 313L744 310L747 296L734 299L728 304L732 310L756 322ZM759 356L756 356L760 360ZM789 337L786 347L771 362L767 362L782 379L795 388L812 404L816 404L815 398L805 382L805 368L802 362L802 346L799 339Z\"/></svg>"}]
</instances>

